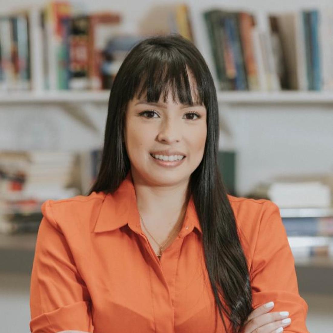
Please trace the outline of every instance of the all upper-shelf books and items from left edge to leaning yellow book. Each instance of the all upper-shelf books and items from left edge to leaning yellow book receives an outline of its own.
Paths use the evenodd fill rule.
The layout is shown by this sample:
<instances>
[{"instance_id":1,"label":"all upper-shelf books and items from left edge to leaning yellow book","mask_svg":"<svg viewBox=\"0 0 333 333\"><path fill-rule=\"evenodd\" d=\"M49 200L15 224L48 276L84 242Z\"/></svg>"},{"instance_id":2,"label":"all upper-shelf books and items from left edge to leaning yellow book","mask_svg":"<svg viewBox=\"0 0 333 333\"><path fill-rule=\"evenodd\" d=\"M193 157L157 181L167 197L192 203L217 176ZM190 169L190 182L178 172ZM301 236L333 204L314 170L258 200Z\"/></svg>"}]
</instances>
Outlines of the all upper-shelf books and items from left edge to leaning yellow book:
<instances>
[{"instance_id":1,"label":"all upper-shelf books and items from left edge to leaning yellow book","mask_svg":"<svg viewBox=\"0 0 333 333\"><path fill-rule=\"evenodd\" d=\"M0 93L110 90L128 51L142 39L167 31L192 39L186 5L160 7L158 13L138 34L122 32L118 12L78 11L66 0L0 17Z\"/></svg>"}]
</instances>

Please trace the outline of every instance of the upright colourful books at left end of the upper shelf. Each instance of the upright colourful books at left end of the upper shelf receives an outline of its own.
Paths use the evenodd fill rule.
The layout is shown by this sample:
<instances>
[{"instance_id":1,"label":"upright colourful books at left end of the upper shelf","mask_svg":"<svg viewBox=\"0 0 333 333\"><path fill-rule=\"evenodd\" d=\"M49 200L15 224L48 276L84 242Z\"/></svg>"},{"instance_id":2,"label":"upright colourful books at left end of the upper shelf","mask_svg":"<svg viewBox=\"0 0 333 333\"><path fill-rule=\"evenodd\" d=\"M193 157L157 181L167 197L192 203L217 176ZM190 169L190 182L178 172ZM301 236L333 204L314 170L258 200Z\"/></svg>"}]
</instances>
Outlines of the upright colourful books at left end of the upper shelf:
<instances>
[{"instance_id":1,"label":"upright colourful books at left end of the upper shelf","mask_svg":"<svg viewBox=\"0 0 333 333\"><path fill-rule=\"evenodd\" d=\"M74 14L69 1L1 17L1 89L103 89L104 47L120 22L115 12Z\"/></svg>"}]
</instances>

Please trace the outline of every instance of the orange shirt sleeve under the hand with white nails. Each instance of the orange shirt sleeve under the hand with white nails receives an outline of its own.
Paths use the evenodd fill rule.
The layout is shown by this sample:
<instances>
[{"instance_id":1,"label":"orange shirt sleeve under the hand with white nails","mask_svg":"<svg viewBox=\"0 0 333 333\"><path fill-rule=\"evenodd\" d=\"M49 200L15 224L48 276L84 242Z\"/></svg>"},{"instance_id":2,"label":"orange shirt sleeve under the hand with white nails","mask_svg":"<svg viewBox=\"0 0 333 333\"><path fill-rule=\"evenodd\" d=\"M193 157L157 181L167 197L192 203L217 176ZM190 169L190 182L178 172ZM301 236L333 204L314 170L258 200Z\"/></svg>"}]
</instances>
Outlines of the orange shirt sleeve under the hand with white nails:
<instances>
[{"instance_id":1,"label":"orange shirt sleeve under the hand with white nails","mask_svg":"<svg viewBox=\"0 0 333 333\"><path fill-rule=\"evenodd\" d=\"M284 328L285 333L309 333L308 305L299 295L294 257L279 207L267 200L261 216L250 272L252 305L257 308L274 301L272 311L289 311L291 324Z\"/></svg>"}]
</instances>

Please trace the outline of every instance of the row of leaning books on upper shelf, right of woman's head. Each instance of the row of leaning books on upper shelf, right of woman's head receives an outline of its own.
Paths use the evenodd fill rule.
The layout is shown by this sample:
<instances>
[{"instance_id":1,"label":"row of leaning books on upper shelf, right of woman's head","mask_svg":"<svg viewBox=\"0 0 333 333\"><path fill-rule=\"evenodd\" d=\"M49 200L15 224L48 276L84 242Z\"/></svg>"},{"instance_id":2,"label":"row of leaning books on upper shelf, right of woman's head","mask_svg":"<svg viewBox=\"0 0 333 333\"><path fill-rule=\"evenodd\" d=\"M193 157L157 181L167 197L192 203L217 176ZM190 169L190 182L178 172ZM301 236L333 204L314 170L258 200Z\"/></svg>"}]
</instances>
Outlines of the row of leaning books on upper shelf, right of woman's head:
<instances>
[{"instance_id":1,"label":"row of leaning books on upper shelf, right of woman's head","mask_svg":"<svg viewBox=\"0 0 333 333\"><path fill-rule=\"evenodd\" d=\"M220 90L332 90L332 8L203 18Z\"/></svg>"}]
</instances>

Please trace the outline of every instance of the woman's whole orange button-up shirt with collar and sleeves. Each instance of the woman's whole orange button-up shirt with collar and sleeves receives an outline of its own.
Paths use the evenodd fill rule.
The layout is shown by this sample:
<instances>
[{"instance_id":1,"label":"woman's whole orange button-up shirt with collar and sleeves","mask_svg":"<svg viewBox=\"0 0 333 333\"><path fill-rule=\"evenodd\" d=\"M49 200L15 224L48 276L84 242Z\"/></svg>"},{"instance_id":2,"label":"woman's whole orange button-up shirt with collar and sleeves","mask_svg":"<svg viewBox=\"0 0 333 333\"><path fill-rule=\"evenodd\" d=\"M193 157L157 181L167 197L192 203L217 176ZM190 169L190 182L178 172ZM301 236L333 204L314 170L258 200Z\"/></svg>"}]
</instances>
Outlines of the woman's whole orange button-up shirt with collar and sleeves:
<instances>
[{"instance_id":1,"label":"woman's whole orange button-up shirt with collar and sleeves","mask_svg":"<svg viewBox=\"0 0 333 333\"><path fill-rule=\"evenodd\" d=\"M254 308L274 301L272 311L289 311L292 319L284 332L308 333L308 305L298 293L278 206L228 198L251 268ZM31 332L215 332L218 314L192 197L161 262L140 227L131 172L113 195L47 200L42 212L31 275ZM225 333L219 317L216 332Z\"/></svg>"}]
</instances>

